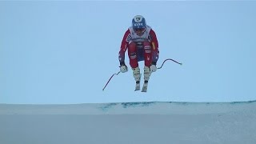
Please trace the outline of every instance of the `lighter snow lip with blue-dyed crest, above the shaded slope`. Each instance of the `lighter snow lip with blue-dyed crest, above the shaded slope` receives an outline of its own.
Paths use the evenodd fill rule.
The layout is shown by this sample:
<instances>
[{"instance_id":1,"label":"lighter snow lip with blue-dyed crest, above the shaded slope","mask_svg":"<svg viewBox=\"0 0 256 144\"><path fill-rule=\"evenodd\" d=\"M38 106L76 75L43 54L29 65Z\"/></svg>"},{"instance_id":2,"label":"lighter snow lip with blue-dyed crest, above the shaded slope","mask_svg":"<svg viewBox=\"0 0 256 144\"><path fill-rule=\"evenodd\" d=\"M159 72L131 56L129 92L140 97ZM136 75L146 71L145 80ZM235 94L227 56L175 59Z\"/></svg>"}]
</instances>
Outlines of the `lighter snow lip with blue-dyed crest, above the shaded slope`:
<instances>
[{"instance_id":1,"label":"lighter snow lip with blue-dyed crest, above the shaded slope","mask_svg":"<svg viewBox=\"0 0 256 144\"><path fill-rule=\"evenodd\" d=\"M65 105L0 104L0 114L216 114L256 109L248 102L113 102Z\"/></svg>"}]
</instances>

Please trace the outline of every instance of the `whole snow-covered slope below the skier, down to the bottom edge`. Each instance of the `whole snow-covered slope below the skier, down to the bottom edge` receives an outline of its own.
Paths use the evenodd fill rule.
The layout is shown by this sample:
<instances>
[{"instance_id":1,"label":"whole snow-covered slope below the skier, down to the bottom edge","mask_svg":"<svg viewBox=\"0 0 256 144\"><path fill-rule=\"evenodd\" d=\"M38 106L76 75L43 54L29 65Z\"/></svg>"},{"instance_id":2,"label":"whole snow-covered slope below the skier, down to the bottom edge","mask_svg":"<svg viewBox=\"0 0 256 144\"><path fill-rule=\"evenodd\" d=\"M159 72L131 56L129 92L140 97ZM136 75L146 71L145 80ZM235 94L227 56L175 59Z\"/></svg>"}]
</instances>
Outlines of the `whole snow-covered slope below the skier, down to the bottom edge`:
<instances>
[{"instance_id":1,"label":"whole snow-covered slope below the skier, down to the bottom edge","mask_svg":"<svg viewBox=\"0 0 256 144\"><path fill-rule=\"evenodd\" d=\"M1 144L254 144L256 101L0 104Z\"/></svg>"}]
</instances>

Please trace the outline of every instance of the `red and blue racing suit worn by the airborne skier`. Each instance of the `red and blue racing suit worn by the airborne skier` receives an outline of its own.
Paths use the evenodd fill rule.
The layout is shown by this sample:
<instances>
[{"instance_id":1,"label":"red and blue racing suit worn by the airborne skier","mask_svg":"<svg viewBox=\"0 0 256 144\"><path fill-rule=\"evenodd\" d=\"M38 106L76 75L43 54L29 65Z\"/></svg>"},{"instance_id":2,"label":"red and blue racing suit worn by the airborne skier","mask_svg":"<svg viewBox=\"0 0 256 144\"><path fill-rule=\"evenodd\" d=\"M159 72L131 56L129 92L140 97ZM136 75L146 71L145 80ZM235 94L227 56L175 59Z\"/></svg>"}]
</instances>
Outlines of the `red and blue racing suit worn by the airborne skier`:
<instances>
[{"instance_id":1,"label":"red and blue racing suit worn by the airborne skier","mask_svg":"<svg viewBox=\"0 0 256 144\"><path fill-rule=\"evenodd\" d=\"M146 26L142 36L138 36L132 27L126 30L118 55L121 66L125 64L127 49L132 68L138 67L139 61L144 61L145 66L156 65L156 62L158 62L158 38L150 26Z\"/></svg>"}]
</instances>

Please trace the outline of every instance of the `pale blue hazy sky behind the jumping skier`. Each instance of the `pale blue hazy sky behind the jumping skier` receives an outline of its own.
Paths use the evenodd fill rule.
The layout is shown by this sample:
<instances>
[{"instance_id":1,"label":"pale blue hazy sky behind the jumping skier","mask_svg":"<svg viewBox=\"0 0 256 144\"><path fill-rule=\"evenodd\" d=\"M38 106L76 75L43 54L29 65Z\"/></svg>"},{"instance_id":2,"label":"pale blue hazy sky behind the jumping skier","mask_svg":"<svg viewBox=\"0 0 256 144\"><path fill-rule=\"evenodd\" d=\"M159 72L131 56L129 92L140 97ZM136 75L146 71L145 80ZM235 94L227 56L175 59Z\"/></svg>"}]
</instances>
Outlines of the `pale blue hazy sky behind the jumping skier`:
<instances>
[{"instance_id":1,"label":"pale blue hazy sky behind the jumping skier","mask_svg":"<svg viewBox=\"0 0 256 144\"><path fill-rule=\"evenodd\" d=\"M131 70L103 92L137 14L158 36L158 66L183 66L166 62L146 94ZM0 103L255 100L255 15L249 1L0 2Z\"/></svg>"}]
</instances>

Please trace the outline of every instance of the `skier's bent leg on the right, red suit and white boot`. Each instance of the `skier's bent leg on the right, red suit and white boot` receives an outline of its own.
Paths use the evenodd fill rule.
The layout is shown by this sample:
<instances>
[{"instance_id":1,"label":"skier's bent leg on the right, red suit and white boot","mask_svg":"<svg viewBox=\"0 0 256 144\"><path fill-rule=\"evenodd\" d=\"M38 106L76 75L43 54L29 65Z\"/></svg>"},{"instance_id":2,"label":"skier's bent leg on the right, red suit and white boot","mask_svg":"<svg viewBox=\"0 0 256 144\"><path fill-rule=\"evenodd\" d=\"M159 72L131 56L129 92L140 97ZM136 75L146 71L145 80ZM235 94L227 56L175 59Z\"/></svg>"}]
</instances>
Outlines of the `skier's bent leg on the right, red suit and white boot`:
<instances>
[{"instance_id":1,"label":"skier's bent leg on the right, red suit and white boot","mask_svg":"<svg viewBox=\"0 0 256 144\"><path fill-rule=\"evenodd\" d=\"M144 80L147 82L150 79L150 65L152 62L151 44L150 42L143 42L144 46Z\"/></svg>"}]
</instances>

